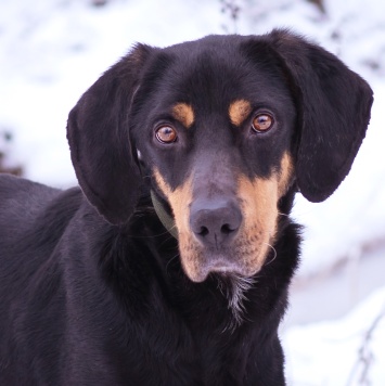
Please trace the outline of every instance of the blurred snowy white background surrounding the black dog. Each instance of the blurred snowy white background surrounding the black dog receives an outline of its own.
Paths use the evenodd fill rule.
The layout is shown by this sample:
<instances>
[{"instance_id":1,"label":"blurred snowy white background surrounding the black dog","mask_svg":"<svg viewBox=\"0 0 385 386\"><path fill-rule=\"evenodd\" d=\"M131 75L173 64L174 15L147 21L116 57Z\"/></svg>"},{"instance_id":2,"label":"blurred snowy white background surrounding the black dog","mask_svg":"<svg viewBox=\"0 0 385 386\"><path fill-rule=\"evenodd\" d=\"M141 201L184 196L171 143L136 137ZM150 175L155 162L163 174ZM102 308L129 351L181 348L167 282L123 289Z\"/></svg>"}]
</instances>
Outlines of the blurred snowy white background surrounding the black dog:
<instances>
[{"instance_id":1,"label":"blurred snowy white background surrounding the black dog","mask_svg":"<svg viewBox=\"0 0 385 386\"><path fill-rule=\"evenodd\" d=\"M66 118L134 42L288 27L374 90L350 175L325 203L298 195L301 267L281 336L290 385L385 385L385 2L383 0L0 0L0 171L76 184Z\"/></svg>"}]
</instances>

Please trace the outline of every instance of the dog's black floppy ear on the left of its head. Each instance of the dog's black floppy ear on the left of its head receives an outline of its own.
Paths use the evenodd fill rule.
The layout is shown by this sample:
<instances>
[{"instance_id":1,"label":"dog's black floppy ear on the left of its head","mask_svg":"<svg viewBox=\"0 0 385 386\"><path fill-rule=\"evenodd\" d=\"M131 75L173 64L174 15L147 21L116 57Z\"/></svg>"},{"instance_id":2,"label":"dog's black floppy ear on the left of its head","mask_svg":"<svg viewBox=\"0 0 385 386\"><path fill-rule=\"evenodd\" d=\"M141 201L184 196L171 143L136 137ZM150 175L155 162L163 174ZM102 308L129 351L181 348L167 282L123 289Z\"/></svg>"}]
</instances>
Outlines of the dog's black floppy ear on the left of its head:
<instances>
[{"instance_id":1,"label":"dog's black floppy ear on the left of its head","mask_svg":"<svg viewBox=\"0 0 385 386\"><path fill-rule=\"evenodd\" d=\"M67 124L70 157L88 201L110 222L126 222L139 197L140 171L128 115L151 52L137 46L81 97Z\"/></svg>"}]
</instances>

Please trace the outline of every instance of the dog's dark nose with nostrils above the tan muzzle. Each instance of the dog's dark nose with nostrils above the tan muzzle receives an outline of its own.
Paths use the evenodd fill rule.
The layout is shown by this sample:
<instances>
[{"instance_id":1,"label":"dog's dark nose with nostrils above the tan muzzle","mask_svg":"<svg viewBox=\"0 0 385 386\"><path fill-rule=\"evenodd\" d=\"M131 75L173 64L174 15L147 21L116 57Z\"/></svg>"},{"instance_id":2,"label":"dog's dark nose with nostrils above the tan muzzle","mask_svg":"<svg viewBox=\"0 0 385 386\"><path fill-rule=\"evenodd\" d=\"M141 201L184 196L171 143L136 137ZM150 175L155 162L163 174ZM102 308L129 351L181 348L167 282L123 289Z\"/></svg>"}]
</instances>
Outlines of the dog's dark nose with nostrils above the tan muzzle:
<instances>
[{"instance_id":1,"label":"dog's dark nose with nostrils above the tan muzzle","mask_svg":"<svg viewBox=\"0 0 385 386\"><path fill-rule=\"evenodd\" d=\"M241 227L242 214L231 200L196 201L191 206L190 227L206 246L226 245Z\"/></svg>"}]
</instances>

